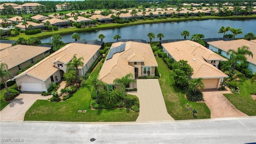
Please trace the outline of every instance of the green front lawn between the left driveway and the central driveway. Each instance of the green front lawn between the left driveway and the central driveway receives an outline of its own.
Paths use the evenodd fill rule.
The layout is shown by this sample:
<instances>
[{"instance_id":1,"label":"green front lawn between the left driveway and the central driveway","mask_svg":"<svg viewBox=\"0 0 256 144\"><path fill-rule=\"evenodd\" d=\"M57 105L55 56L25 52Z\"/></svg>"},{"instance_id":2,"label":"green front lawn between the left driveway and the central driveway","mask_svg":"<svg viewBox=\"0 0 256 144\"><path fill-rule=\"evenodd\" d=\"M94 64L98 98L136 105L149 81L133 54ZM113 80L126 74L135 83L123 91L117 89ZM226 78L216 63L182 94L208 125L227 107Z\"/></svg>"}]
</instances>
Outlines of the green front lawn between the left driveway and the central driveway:
<instances>
[{"instance_id":1,"label":"green front lawn between the left driveway and the central driveway","mask_svg":"<svg viewBox=\"0 0 256 144\"><path fill-rule=\"evenodd\" d=\"M100 65L92 75L98 75ZM64 102L37 100L26 112L24 120L72 121L72 122L126 122L136 121L138 113L124 108L92 110L90 108L90 85L81 87L70 99ZM78 110L87 110L78 113Z\"/></svg>"}]
</instances>

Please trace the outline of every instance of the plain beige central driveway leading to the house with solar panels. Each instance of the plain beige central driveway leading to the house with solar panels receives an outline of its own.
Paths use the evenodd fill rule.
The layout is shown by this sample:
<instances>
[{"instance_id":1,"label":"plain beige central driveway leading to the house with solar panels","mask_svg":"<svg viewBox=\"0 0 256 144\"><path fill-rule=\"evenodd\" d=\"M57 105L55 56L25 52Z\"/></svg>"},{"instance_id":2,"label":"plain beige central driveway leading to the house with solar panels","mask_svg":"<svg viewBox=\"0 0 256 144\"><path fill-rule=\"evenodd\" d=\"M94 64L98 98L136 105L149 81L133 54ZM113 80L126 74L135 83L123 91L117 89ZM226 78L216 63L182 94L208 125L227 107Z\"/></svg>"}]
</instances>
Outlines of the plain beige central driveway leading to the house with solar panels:
<instances>
[{"instance_id":1,"label":"plain beige central driveway leading to the house with solar panels","mask_svg":"<svg viewBox=\"0 0 256 144\"><path fill-rule=\"evenodd\" d=\"M136 122L174 120L167 112L158 79L138 79L137 92L128 92L138 96L140 114Z\"/></svg>"}]
</instances>

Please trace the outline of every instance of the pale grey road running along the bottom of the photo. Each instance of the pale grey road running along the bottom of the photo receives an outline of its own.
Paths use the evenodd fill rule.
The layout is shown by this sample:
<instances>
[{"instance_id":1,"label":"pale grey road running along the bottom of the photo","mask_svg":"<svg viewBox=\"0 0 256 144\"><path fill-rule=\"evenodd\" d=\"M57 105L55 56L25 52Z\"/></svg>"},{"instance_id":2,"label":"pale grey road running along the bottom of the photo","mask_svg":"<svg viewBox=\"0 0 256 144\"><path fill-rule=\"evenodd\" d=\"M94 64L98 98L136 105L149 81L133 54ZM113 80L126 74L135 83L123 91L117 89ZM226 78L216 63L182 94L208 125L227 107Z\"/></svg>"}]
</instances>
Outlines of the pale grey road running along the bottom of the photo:
<instances>
[{"instance_id":1,"label":"pale grey road running along the bottom of the photo","mask_svg":"<svg viewBox=\"0 0 256 144\"><path fill-rule=\"evenodd\" d=\"M25 121L1 122L0 126L1 144L244 144L256 142L255 116L152 123ZM96 140L91 142L91 138ZM15 140L18 142L13 142Z\"/></svg>"}]
</instances>

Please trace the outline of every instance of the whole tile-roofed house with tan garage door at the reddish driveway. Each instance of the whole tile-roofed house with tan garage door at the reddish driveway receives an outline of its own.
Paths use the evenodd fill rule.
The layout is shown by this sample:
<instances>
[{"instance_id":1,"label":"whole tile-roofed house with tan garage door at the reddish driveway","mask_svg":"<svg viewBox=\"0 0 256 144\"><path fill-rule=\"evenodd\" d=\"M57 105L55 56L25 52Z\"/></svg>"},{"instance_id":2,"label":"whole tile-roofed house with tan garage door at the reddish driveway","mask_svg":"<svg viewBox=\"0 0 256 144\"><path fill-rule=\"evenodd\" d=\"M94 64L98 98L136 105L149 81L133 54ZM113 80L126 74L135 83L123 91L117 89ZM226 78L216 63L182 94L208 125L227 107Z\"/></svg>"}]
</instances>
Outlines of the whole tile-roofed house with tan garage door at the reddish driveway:
<instances>
[{"instance_id":1,"label":"whole tile-roofed house with tan garage door at the reddish driveway","mask_svg":"<svg viewBox=\"0 0 256 144\"><path fill-rule=\"evenodd\" d=\"M175 61L186 60L193 68L191 79L203 78L204 89L219 88L223 78L228 77L218 70L220 61L226 58L208 50L206 47L190 40L162 44L163 52Z\"/></svg>"}]
</instances>

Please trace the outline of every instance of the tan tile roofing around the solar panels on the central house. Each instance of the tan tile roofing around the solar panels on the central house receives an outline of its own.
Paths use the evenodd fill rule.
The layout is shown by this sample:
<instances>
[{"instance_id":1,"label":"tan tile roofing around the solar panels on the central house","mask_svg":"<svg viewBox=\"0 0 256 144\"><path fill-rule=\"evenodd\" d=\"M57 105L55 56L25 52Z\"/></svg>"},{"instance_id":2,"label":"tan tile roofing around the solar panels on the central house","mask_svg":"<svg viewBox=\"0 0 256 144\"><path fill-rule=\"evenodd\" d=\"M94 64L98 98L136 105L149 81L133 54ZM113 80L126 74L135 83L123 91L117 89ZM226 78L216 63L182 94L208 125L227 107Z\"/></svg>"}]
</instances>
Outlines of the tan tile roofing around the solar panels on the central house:
<instances>
[{"instance_id":1,"label":"tan tile roofing around the solar panels on the central house","mask_svg":"<svg viewBox=\"0 0 256 144\"><path fill-rule=\"evenodd\" d=\"M122 78L126 74L132 73L134 76L134 66L128 62L144 62L144 66L158 66L156 58L150 44L140 42L116 42L111 48L125 43L125 50L113 55L111 59L105 60L99 73L99 79L107 84L113 84L116 78Z\"/></svg>"}]
</instances>

